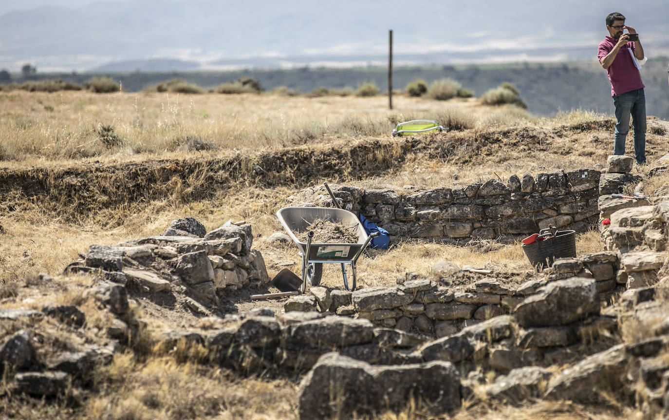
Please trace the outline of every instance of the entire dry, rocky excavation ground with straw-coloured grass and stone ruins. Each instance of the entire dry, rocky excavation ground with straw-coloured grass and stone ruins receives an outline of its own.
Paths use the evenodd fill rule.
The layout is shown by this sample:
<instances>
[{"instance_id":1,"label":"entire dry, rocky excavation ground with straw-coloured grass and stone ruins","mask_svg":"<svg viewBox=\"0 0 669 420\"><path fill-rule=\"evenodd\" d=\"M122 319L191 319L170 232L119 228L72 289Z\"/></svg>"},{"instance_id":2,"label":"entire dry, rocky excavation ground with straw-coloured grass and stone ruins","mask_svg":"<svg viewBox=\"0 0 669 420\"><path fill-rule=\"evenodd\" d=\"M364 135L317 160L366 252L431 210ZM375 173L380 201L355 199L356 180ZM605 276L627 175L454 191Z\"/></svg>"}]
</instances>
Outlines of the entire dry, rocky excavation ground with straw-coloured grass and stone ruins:
<instances>
[{"instance_id":1,"label":"entire dry, rocky excavation ground with straw-coloured grass and stone ruins","mask_svg":"<svg viewBox=\"0 0 669 420\"><path fill-rule=\"evenodd\" d=\"M669 121L639 167L587 111L175 96L0 95L1 416L666 415ZM452 129L390 135L430 115ZM409 228L353 292L323 264L320 287L252 299L301 274L276 212L331 206L324 181ZM577 252L537 270L520 239L547 222Z\"/></svg>"}]
</instances>

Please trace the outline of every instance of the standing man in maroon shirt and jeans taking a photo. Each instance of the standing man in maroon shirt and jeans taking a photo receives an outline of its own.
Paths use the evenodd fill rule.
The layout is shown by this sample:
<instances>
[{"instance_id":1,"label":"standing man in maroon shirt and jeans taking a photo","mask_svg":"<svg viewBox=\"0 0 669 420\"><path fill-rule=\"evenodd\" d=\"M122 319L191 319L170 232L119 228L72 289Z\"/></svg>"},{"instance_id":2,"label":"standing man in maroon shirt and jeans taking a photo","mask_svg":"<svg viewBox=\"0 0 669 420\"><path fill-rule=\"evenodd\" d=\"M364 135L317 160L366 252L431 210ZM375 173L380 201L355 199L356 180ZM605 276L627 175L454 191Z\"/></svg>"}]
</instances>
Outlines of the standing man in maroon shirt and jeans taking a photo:
<instances>
[{"instance_id":1,"label":"standing man in maroon shirt and jeans taking a photo","mask_svg":"<svg viewBox=\"0 0 669 420\"><path fill-rule=\"evenodd\" d=\"M636 163L646 163L646 96L641 81L640 66L634 60L643 60L644 48L634 27L625 25L625 17L611 13L606 17L609 36L599 44L597 58L606 69L611 82L615 105L614 155L625 154L625 139L630 131L630 115L634 127L634 157ZM623 33L627 29L627 33ZM630 36L636 38L630 41Z\"/></svg>"}]
</instances>

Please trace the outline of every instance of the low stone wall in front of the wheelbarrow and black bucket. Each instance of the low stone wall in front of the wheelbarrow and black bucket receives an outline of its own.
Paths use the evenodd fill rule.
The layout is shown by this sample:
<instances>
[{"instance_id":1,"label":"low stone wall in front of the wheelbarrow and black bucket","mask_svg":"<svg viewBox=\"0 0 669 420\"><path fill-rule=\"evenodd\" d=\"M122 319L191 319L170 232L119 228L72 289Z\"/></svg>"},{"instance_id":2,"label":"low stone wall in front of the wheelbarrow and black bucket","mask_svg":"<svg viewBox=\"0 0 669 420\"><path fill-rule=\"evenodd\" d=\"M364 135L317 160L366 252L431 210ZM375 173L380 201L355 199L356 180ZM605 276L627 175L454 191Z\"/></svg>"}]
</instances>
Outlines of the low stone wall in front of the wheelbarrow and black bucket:
<instances>
[{"instance_id":1,"label":"low stone wall in front of the wheelbarrow and black bucket","mask_svg":"<svg viewBox=\"0 0 669 420\"><path fill-rule=\"evenodd\" d=\"M608 301L615 291L621 291L615 276L618 268L617 256L612 252L558 259L551 269L535 279L508 287L494 277L466 273L453 263L442 262L432 269L434 281L410 280L397 287L368 287L353 292L310 287L308 294L291 297L284 310L337 314L369 320L379 327L439 338L510 313L518 303L549 282L569 277L593 279L598 299ZM462 282L464 277L468 277L470 286L440 285L458 279Z\"/></svg>"}]
</instances>

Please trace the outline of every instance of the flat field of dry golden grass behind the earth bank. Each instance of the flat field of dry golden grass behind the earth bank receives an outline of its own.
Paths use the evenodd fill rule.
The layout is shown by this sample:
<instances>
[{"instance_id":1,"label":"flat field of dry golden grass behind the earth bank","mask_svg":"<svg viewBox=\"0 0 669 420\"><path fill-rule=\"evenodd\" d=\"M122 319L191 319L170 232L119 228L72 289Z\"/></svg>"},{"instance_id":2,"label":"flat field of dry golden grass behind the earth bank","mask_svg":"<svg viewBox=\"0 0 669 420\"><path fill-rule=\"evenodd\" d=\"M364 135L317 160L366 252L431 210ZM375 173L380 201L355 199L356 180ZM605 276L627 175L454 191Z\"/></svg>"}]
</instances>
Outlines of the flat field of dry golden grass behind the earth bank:
<instances>
[{"instance_id":1,"label":"flat field of dry golden grass behind the earth bank","mask_svg":"<svg viewBox=\"0 0 669 420\"><path fill-rule=\"evenodd\" d=\"M462 109L482 112L474 111L474 104L458 102ZM187 139L221 153L257 151L360 135L347 129L347 121L382 124L378 133L389 134L389 115L429 116L441 110L434 100L402 96L389 111L383 97L13 91L0 94L0 161L145 158L183 151ZM101 141L100 126L112 127L122 142ZM300 134L305 132L312 135Z\"/></svg>"}]
</instances>

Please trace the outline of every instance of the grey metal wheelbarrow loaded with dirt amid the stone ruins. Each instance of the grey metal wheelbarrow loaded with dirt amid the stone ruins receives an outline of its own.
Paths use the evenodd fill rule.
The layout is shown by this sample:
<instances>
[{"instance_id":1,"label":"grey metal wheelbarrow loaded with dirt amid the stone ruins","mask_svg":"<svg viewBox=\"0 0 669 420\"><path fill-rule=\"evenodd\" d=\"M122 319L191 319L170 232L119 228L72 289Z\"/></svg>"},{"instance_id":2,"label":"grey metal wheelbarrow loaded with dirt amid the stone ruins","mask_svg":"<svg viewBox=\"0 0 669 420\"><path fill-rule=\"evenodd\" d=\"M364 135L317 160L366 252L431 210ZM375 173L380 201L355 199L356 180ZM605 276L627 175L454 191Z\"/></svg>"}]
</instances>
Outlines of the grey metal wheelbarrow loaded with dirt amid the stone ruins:
<instances>
[{"instance_id":1,"label":"grey metal wheelbarrow loaded with dirt amid the stone ruins","mask_svg":"<svg viewBox=\"0 0 669 420\"><path fill-rule=\"evenodd\" d=\"M341 272L344 277L344 287L348 291L355 290L357 263L363 251L369 245L369 242L379 232L367 235L365 228L355 214L344 210L343 208L328 207L284 207L276 212L282 226L288 232L288 236L295 242L298 252L302 257L302 285L300 292L306 290L306 282L317 286L323 273L323 264L338 263L341 264ZM357 243L313 243L314 232L309 231L306 242L302 242L296 236L296 233L306 232L314 220L329 220L333 223L355 226L355 233L358 237ZM349 281L346 275L346 264L351 264L352 283L349 287Z\"/></svg>"}]
</instances>

